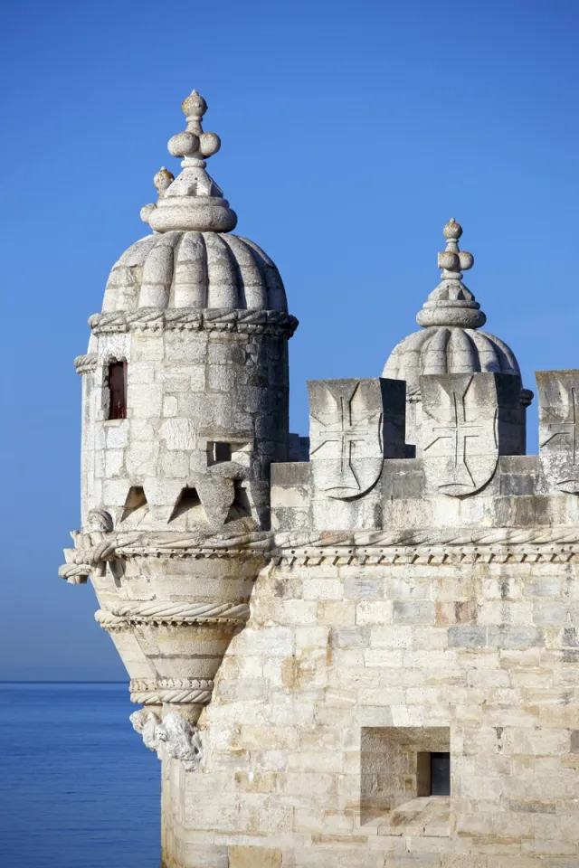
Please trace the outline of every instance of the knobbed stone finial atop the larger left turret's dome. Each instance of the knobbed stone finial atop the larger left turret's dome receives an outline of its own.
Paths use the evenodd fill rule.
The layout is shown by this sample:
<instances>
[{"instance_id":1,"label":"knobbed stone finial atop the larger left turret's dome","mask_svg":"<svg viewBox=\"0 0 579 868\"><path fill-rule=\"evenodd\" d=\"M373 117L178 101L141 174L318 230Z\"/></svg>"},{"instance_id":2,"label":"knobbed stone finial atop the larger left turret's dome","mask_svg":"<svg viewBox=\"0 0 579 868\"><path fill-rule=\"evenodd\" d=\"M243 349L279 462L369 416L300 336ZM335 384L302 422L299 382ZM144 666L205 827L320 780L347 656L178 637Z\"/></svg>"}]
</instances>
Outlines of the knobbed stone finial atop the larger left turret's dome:
<instances>
[{"instance_id":1,"label":"knobbed stone finial atop the larger left turret's dome","mask_svg":"<svg viewBox=\"0 0 579 868\"><path fill-rule=\"evenodd\" d=\"M223 191L205 172L205 160L217 153L221 139L217 133L205 133L202 119L207 103L196 90L181 106L187 126L184 132L169 139L171 156L182 156L183 171L177 177L163 166L155 175L156 204L141 209L141 219L157 232L171 230L229 232L237 224L237 215L223 199Z\"/></svg>"}]
</instances>

